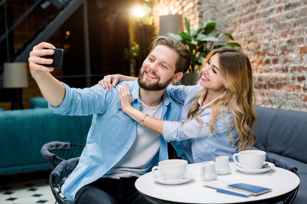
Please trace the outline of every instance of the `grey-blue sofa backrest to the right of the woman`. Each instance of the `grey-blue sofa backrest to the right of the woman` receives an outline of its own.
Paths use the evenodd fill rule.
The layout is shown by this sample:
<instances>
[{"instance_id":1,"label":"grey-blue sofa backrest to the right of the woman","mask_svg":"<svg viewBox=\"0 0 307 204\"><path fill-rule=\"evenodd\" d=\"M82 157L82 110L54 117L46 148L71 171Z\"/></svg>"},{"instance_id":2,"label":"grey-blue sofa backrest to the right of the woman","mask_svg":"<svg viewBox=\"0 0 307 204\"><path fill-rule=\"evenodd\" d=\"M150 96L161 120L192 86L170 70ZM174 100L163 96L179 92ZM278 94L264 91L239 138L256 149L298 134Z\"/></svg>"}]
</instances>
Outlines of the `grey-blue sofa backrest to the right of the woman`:
<instances>
[{"instance_id":1,"label":"grey-blue sofa backrest to the right of the woman","mask_svg":"<svg viewBox=\"0 0 307 204\"><path fill-rule=\"evenodd\" d=\"M307 113L256 107L255 146L267 152L307 163Z\"/></svg>"}]
</instances>

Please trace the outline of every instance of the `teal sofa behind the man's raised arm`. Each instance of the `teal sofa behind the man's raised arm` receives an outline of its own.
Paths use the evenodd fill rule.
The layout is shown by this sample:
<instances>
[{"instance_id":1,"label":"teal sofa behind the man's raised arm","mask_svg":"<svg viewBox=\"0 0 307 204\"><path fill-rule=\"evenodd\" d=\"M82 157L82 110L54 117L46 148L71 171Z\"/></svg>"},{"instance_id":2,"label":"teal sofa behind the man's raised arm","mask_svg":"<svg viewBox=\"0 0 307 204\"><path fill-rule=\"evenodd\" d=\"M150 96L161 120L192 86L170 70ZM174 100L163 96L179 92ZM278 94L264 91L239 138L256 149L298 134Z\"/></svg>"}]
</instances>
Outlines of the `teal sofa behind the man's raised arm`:
<instances>
[{"instance_id":1,"label":"teal sofa behind the man's raised arm","mask_svg":"<svg viewBox=\"0 0 307 204\"><path fill-rule=\"evenodd\" d=\"M92 115L58 115L44 105L0 111L0 175L51 169L41 147L50 141L85 144L91 121Z\"/></svg>"}]
</instances>

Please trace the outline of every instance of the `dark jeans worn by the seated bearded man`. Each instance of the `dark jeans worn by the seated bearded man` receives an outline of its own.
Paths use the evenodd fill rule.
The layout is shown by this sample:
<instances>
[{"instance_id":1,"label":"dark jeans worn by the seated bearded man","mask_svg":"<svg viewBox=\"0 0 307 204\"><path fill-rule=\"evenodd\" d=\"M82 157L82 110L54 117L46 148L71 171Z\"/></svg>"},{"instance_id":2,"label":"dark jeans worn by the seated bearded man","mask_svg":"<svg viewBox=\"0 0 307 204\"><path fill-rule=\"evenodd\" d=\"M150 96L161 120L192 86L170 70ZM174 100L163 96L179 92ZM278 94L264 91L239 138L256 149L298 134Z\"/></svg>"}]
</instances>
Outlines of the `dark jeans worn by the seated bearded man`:
<instances>
[{"instance_id":1,"label":"dark jeans worn by the seated bearded man","mask_svg":"<svg viewBox=\"0 0 307 204\"><path fill-rule=\"evenodd\" d=\"M76 204L150 204L134 187L137 177L101 178L78 190Z\"/></svg>"}]
</instances>

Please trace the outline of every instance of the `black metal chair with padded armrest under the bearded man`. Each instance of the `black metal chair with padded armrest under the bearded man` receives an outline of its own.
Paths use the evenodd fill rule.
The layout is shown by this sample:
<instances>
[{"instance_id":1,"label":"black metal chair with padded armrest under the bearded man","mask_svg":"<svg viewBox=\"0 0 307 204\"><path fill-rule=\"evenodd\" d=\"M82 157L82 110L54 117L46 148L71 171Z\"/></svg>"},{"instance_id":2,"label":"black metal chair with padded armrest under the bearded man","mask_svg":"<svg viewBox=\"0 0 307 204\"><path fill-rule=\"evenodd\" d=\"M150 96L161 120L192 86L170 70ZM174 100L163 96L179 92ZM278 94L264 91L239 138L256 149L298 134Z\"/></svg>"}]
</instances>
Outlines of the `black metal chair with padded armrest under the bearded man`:
<instances>
[{"instance_id":1,"label":"black metal chair with padded armrest under the bearded man","mask_svg":"<svg viewBox=\"0 0 307 204\"><path fill-rule=\"evenodd\" d=\"M61 193L61 187L77 166L84 144L53 141L44 144L41 154L48 159L53 169L49 176L51 192L58 204L74 204Z\"/></svg>"}]
</instances>

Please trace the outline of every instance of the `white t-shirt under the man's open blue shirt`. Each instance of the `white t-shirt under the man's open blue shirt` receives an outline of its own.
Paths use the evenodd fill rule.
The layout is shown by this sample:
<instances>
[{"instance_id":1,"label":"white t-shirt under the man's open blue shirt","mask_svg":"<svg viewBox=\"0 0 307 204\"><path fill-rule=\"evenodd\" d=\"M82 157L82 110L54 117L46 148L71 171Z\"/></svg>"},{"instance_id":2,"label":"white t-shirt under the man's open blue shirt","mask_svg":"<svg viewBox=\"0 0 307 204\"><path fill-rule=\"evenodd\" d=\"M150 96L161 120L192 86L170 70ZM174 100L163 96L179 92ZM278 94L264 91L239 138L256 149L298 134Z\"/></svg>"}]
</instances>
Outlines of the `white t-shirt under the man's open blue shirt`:
<instances>
[{"instance_id":1,"label":"white t-shirt under the man's open blue shirt","mask_svg":"<svg viewBox=\"0 0 307 204\"><path fill-rule=\"evenodd\" d=\"M156 107L148 107L143 102L141 112L161 118L162 103ZM139 177L148 172L152 159L160 148L161 137L153 131L137 125L136 138L127 154L115 164L102 178Z\"/></svg>"}]
</instances>

